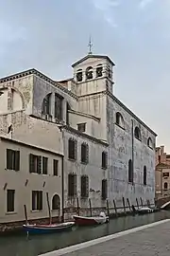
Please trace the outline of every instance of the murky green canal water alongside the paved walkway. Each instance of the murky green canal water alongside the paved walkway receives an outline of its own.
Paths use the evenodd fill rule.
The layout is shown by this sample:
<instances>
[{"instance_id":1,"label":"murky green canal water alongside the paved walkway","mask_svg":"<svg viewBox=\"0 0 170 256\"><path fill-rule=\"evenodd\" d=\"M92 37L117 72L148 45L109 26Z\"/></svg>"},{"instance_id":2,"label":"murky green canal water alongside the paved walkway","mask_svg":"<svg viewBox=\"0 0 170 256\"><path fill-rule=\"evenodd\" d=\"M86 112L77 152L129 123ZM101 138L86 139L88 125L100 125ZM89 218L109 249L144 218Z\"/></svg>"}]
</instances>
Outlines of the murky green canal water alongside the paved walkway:
<instances>
[{"instance_id":1,"label":"murky green canal water alongside the paved walkway","mask_svg":"<svg viewBox=\"0 0 170 256\"><path fill-rule=\"evenodd\" d=\"M145 224L170 218L170 211L160 211L146 215L120 217L110 220L109 224L97 227L76 228L63 233L20 235L0 237L0 255L6 256L37 256L47 251L69 247L78 243L113 234L122 230L132 229Z\"/></svg>"}]
</instances>

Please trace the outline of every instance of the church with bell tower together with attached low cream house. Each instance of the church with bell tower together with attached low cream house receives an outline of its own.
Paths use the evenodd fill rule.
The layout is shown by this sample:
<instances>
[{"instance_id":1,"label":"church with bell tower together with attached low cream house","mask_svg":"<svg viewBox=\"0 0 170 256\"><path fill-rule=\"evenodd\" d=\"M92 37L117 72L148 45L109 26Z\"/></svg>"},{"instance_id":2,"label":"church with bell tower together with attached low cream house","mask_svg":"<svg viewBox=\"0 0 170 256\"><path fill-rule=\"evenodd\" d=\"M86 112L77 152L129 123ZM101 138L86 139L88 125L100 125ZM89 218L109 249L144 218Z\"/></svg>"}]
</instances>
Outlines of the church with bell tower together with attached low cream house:
<instances>
[{"instance_id":1,"label":"church with bell tower together with attached low cream house","mask_svg":"<svg viewBox=\"0 0 170 256\"><path fill-rule=\"evenodd\" d=\"M114 63L90 52L72 68L63 81L36 69L0 79L0 222L24 219L24 204L45 218L46 192L53 216L89 198L154 203L157 135L115 97Z\"/></svg>"}]
</instances>

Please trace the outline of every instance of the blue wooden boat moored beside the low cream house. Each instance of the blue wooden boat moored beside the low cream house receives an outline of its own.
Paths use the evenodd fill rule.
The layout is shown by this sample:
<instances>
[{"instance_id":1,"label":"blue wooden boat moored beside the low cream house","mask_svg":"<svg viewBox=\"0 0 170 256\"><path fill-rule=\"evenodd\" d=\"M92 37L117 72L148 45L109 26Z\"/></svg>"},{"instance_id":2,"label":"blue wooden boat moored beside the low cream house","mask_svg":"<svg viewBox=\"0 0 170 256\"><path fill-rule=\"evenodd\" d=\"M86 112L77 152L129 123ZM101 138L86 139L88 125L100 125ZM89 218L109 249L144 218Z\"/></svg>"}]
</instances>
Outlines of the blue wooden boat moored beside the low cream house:
<instances>
[{"instance_id":1,"label":"blue wooden boat moored beside the low cream house","mask_svg":"<svg viewBox=\"0 0 170 256\"><path fill-rule=\"evenodd\" d=\"M38 224L25 224L23 229L30 234L44 234L52 232L61 232L64 230L72 229L75 222L64 222L60 224L48 224L48 225L38 225Z\"/></svg>"}]
</instances>

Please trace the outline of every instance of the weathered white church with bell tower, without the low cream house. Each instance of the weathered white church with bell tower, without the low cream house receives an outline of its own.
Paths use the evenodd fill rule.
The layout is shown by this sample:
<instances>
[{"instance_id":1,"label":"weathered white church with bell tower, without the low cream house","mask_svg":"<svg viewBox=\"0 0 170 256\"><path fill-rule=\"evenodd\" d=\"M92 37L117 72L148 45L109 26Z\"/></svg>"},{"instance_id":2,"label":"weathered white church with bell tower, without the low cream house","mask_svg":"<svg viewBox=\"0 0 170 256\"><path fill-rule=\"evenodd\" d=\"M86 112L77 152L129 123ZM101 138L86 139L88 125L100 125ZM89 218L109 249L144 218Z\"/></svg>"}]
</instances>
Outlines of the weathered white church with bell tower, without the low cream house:
<instances>
[{"instance_id":1,"label":"weathered white church with bell tower, without the low cream house","mask_svg":"<svg viewBox=\"0 0 170 256\"><path fill-rule=\"evenodd\" d=\"M107 198L111 206L122 197L154 201L156 134L115 98L113 66L87 55L73 64L73 79L31 69L0 80L1 135L64 155L64 208L88 208L89 198L96 208Z\"/></svg>"}]
</instances>

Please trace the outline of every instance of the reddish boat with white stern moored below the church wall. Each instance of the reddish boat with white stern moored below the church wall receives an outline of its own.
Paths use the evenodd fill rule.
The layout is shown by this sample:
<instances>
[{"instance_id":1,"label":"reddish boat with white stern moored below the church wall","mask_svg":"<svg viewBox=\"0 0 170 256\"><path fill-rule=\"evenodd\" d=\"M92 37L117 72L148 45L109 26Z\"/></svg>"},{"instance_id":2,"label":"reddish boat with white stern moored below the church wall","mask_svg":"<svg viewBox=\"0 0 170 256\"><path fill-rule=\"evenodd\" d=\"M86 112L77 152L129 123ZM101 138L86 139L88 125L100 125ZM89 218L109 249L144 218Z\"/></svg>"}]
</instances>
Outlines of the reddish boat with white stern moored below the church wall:
<instances>
[{"instance_id":1,"label":"reddish boat with white stern moored below the church wall","mask_svg":"<svg viewBox=\"0 0 170 256\"><path fill-rule=\"evenodd\" d=\"M78 226L93 226L109 222L109 217L104 212L101 212L99 216L84 217L74 215L73 218L75 219L75 224Z\"/></svg>"}]
</instances>

